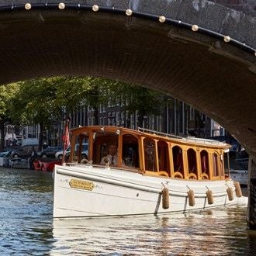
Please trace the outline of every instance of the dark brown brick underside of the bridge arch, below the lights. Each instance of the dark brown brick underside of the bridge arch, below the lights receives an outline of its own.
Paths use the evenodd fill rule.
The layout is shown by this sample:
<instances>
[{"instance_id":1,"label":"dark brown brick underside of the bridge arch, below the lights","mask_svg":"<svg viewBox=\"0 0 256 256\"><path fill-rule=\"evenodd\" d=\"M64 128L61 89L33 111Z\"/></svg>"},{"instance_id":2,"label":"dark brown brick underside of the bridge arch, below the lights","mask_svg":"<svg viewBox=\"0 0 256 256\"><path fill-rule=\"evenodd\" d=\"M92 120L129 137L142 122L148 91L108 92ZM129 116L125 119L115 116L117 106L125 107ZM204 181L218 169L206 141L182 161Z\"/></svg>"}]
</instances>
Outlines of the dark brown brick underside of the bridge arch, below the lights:
<instances>
[{"instance_id":1,"label":"dark brown brick underside of the bridge arch, below the lights","mask_svg":"<svg viewBox=\"0 0 256 256\"><path fill-rule=\"evenodd\" d=\"M0 14L0 83L92 75L157 89L205 112L256 157L255 56L156 20L106 12Z\"/></svg>"}]
</instances>

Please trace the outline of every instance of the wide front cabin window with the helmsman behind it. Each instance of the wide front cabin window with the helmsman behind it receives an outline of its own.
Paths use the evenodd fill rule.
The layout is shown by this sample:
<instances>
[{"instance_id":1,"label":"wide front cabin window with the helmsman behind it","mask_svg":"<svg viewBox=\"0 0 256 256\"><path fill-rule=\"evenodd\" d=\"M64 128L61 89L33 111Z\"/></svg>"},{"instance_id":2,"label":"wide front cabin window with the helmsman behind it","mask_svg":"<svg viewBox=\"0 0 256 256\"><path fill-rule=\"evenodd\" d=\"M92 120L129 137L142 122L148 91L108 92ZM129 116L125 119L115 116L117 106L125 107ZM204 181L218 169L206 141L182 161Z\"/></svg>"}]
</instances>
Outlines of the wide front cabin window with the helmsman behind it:
<instances>
[{"instance_id":1,"label":"wide front cabin window with the helmsman behind it","mask_svg":"<svg viewBox=\"0 0 256 256\"><path fill-rule=\"evenodd\" d=\"M118 135L116 133L95 132L93 140L92 161L95 164L102 164L102 159L109 156L109 148L113 147L112 145L115 145L118 149ZM118 152L116 152L116 155L118 155ZM115 157L115 163L116 161Z\"/></svg>"}]
</instances>

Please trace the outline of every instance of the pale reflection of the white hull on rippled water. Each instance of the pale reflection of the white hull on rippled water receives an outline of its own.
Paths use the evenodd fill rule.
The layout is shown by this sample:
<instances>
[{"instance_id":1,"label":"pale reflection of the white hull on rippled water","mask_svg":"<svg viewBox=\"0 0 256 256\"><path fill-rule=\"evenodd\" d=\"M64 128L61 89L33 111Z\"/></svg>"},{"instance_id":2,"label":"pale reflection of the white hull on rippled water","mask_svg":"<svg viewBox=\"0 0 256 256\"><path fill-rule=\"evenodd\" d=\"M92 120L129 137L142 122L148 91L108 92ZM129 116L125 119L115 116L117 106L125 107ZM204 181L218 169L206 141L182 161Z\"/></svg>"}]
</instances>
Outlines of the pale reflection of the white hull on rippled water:
<instances>
[{"instance_id":1,"label":"pale reflection of the white hull on rippled water","mask_svg":"<svg viewBox=\"0 0 256 256\"><path fill-rule=\"evenodd\" d=\"M234 207L188 215L54 220L52 254L238 255L251 246L245 213L245 207Z\"/></svg>"}]
</instances>

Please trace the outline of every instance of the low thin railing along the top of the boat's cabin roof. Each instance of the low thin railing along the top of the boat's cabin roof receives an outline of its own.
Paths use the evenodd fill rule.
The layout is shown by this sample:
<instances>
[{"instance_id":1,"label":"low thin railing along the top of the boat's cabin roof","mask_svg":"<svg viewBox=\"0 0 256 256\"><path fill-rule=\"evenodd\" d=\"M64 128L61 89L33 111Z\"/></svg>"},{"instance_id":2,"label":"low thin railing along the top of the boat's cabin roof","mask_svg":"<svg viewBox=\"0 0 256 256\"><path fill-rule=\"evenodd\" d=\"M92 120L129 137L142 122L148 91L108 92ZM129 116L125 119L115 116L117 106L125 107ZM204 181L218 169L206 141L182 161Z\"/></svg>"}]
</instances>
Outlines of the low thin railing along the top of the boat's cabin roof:
<instances>
[{"instance_id":1,"label":"low thin railing along the top of the boat's cabin roof","mask_svg":"<svg viewBox=\"0 0 256 256\"><path fill-rule=\"evenodd\" d=\"M199 144L213 144L213 145L226 144L225 142L220 142L217 140L209 140L209 139L195 138L195 137L181 137L181 136L178 136L175 134L162 133L162 132L158 132L156 130L150 130L150 129L141 128L141 127L138 127L137 130L139 130L140 132L152 133L152 134L160 135L163 137L170 137L170 138L175 138L175 139L179 139L179 140L185 140L186 142L193 142L193 143L199 143Z\"/></svg>"}]
</instances>

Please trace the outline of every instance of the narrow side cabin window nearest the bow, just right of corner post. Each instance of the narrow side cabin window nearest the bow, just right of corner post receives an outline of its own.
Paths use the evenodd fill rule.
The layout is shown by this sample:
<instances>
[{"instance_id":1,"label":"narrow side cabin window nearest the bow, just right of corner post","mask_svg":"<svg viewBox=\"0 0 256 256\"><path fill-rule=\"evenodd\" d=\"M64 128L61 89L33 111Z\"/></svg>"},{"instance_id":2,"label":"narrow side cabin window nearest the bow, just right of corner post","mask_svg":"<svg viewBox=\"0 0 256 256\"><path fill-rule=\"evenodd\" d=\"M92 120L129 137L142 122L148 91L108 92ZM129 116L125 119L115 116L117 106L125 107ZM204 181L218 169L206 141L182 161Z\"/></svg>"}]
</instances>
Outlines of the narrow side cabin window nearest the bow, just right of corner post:
<instances>
[{"instance_id":1,"label":"narrow side cabin window nearest the bow, just right of corner post","mask_svg":"<svg viewBox=\"0 0 256 256\"><path fill-rule=\"evenodd\" d=\"M145 138L144 139L145 170L157 171L155 153L156 153L156 150L155 150L154 140L150 138Z\"/></svg>"}]
</instances>

